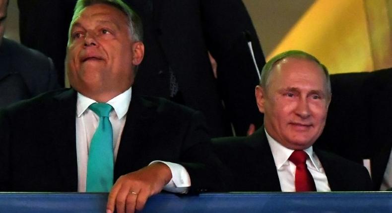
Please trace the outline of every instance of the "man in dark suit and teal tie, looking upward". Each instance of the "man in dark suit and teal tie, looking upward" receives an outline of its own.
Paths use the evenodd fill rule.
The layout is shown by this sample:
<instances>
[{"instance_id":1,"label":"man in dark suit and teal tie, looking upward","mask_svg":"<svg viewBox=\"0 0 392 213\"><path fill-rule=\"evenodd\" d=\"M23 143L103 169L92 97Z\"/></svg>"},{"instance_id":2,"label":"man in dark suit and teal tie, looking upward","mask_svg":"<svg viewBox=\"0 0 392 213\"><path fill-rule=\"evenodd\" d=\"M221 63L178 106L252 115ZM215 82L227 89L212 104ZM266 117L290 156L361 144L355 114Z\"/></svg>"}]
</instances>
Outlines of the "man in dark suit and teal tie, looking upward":
<instances>
[{"instance_id":1,"label":"man in dark suit and teal tie, looking upward","mask_svg":"<svg viewBox=\"0 0 392 213\"><path fill-rule=\"evenodd\" d=\"M221 186L220 161L210 149L202 115L131 94L134 70L144 55L140 39L140 20L124 2L78 0L65 63L73 89L0 112L2 190L85 192L107 184L110 173L89 180L97 175L89 172L90 157L104 146L95 141L104 137L113 139L112 157L98 160L115 162L108 212L115 206L118 213L140 210L162 189L186 193ZM113 110L99 115L94 106Z\"/></svg>"}]
</instances>

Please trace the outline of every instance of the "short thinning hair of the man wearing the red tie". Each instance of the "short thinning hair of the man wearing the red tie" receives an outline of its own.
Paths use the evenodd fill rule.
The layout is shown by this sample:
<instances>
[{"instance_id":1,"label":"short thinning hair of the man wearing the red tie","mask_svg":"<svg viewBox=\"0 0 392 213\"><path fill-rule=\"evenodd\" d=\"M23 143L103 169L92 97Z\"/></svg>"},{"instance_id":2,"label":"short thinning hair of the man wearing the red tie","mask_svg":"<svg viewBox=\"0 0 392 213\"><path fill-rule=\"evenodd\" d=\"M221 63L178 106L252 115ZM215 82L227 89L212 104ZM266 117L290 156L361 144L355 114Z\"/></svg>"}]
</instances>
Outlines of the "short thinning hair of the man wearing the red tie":
<instances>
[{"instance_id":1,"label":"short thinning hair of the man wearing the red tie","mask_svg":"<svg viewBox=\"0 0 392 213\"><path fill-rule=\"evenodd\" d=\"M324 74L326 75L327 79L327 92L328 95L331 95L331 81L329 78L329 73L327 70L327 67L322 64L319 59L317 59L315 56L305 53L303 51L298 51L298 50L292 50L292 51L287 51L284 53L280 53L274 57L272 57L267 63L265 63L264 67L261 70L261 79L260 79L260 86L264 88L264 90L267 89L268 83L269 83L269 78L271 76L271 71L275 67L275 65L280 61L288 57L296 57L296 58L306 58L312 61L315 61L317 64L320 65L320 67L323 69Z\"/></svg>"}]
</instances>

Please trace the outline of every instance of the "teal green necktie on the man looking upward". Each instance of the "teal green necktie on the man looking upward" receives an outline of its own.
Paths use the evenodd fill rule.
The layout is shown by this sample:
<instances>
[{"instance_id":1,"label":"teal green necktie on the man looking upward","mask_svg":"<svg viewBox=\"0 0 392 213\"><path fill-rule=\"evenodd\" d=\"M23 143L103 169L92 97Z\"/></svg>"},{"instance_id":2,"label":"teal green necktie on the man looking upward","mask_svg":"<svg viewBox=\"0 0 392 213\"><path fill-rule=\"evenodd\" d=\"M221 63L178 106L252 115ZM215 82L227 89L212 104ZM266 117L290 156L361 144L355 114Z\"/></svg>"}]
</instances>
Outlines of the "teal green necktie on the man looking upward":
<instances>
[{"instance_id":1,"label":"teal green necktie on the man looking upward","mask_svg":"<svg viewBox=\"0 0 392 213\"><path fill-rule=\"evenodd\" d=\"M113 129L109 113L113 107L105 103L89 106L99 116L99 124L91 139L87 162L86 192L109 192L113 186Z\"/></svg>"}]
</instances>

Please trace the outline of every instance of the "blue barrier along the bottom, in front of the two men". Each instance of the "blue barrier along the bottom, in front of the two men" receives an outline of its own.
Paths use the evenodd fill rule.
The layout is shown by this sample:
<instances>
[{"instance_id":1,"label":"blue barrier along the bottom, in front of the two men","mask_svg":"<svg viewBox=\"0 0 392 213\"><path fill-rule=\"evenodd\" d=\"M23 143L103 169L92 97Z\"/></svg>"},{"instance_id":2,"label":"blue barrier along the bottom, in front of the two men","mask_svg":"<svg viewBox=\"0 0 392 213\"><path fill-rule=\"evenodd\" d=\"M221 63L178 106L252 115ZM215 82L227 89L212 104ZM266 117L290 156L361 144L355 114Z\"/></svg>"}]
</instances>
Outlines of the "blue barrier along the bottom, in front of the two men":
<instances>
[{"instance_id":1,"label":"blue barrier along the bottom, in front of the two men","mask_svg":"<svg viewBox=\"0 0 392 213\"><path fill-rule=\"evenodd\" d=\"M0 213L105 213L106 193L0 193ZM142 213L392 213L392 192L151 197Z\"/></svg>"}]
</instances>

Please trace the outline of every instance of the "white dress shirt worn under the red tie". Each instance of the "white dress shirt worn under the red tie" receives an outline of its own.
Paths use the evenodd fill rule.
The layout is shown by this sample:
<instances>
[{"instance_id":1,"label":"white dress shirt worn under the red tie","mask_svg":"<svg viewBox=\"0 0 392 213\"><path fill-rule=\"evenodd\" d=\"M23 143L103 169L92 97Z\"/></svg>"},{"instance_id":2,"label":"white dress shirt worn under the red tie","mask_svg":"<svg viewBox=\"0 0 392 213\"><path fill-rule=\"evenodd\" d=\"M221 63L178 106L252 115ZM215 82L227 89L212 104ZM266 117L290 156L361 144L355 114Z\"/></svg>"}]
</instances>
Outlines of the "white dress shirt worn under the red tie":
<instances>
[{"instance_id":1,"label":"white dress shirt worn under the red tie","mask_svg":"<svg viewBox=\"0 0 392 213\"><path fill-rule=\"evenodd\" d=\"M293 162L288 160L294 150L290 150L277 141L275 141L271 136L267 136L269 147L271 148L273 160L275 161L276 170L278 172L280 188L282 192L295 192L295 170L296 166ZM309 147L304 150L308 154L309 158L306 160L306 165L310 173L315 180L316 189L318 192L329 192L330 187L327 180L326 172L316 153L313 152L313 148Z\"/></svg>"}]
</instances>

